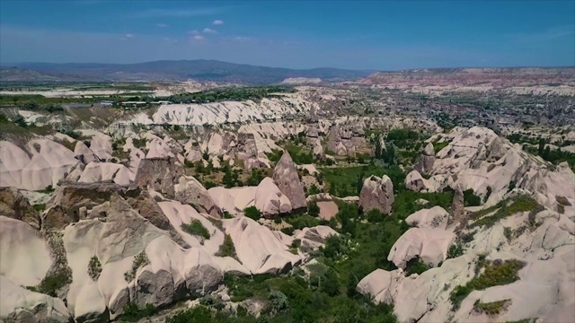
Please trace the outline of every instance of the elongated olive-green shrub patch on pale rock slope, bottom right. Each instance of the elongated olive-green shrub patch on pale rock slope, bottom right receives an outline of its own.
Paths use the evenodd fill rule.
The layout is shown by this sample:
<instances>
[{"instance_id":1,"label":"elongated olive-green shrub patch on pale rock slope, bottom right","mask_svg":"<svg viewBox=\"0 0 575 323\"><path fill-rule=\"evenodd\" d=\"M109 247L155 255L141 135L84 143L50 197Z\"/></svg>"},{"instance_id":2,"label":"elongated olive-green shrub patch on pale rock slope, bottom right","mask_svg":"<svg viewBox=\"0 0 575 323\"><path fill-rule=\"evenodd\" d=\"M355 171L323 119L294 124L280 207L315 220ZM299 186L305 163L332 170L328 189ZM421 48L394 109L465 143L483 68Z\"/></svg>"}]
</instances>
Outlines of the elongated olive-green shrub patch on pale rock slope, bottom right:
<instances>
[{"instance_id":1,"label":"elongated olive-green shrub patch on pale rock slope, bottom right","mask_svg":"<svg viewBox=\"0 0 575 323\"><path fill-rule=\"evenodd\" d=\"M449 295L454 310L458 309L465 297L473 291L482 291L492 286L506 285L517 281L519 279L517 272L525 266L525 263L518 260L493 262L483 260L482 266L484 268L482 274L473 277L467 284L458 285Z\"/></svg>"}]
</instances>

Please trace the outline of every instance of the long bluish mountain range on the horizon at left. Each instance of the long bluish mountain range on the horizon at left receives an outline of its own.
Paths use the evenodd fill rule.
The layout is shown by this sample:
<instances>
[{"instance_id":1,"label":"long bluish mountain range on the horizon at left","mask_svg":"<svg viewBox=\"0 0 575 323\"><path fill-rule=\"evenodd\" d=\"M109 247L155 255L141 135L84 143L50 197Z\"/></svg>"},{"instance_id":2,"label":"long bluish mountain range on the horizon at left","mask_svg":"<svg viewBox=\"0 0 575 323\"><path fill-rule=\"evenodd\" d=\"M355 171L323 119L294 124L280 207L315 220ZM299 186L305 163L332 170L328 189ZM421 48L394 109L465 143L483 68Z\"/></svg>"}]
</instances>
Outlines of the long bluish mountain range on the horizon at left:
<instances>
[{"instance_id":1,"label":"long bluish mountain range on the horizon at left","mask_svg":"<svg viewBox=\"0 0 575 323\"><path fill-rule=\"evenodd\" d=\"M339 68L289 69L217 60L163 60L137 64L20 63L3 66L0 82L149 82L281 83L287 78L320 78L324 82L358 80L373 71Z\"/></svg>"}]
</instances>

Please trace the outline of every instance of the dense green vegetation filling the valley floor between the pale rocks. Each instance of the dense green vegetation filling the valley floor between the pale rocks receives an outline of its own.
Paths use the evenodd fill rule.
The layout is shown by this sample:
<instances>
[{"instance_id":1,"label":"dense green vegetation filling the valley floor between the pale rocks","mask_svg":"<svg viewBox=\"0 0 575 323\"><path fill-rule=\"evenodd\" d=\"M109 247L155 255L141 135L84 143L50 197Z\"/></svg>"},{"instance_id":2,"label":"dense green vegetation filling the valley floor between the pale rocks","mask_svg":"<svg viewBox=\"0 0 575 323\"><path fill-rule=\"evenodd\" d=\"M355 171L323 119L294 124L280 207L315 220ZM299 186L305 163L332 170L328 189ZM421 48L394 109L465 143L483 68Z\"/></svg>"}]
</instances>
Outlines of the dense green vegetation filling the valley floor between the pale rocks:
<instances>
[{"instance_id":1,"label":"dense green vegetation filling the valley floor between the pale rocks","mask_svg":"<svg viewBox=\"0 0 575 323\"><path fill-rule=\"evenodd\" d=\"M278 153L278 157L280 154ZM394 242L409 229L405 218L423 207L440 205L449 209L453 192L420 193L403 188L405 174L397 166L371 163L363 167L325 168L323 180L328 186L334 184L358 194L359 183L371 174L387 174L394 180L395 202L391 214L377 210L364 212L357 204L339 202L339 212L331 221L315 216L314 204L307 212L282 216L281 222L290 224L282 229L287 234L296 229L319 224L329 225L338 235L325 240L323 248L312 256L317 263L293 269L285 275L236 276L226 274L226 284L232 301L258 300L266 306L257 321L261 322L394 322L393 308L375 305L356 292L358 282L376 268L393 270L396 267L387 260ZM427 205L416 201L425 199ZM244 210L246 216L259 219L255 207ZM226 244L226 243L225 243ZM223 248L223 247L222 247ZM301 248L301 241L294 240L290 250ZM231 249L231 248L230 248ZM410 267L410 273L422 273L427 266L418 259ZM201 307L182 311L168 322L253 322L256 319L240 307L236 311L223 310L223 304L205 302Z\"/></svg>"}]
</instances>

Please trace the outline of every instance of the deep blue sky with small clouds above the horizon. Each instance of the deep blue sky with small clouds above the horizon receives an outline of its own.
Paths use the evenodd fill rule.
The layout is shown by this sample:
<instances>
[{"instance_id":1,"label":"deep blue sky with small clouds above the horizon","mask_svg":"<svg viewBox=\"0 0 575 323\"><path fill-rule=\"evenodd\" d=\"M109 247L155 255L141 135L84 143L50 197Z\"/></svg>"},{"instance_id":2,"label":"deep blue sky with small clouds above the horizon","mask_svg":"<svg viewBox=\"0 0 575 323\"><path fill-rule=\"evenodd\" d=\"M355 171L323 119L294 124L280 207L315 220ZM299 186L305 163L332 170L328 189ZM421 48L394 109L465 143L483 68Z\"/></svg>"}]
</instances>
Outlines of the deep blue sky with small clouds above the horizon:
<instances>
[{"instance_id":1,"label":"deep blue sky with small clouds above the horizon","mask_svg":"<svg viewBox=\"0 0 575 323\"><path fill-rule=\"evenodd\" d=\"M575 65L575 1L0 1L0 64Z\"/></svg>"}]
</instances>

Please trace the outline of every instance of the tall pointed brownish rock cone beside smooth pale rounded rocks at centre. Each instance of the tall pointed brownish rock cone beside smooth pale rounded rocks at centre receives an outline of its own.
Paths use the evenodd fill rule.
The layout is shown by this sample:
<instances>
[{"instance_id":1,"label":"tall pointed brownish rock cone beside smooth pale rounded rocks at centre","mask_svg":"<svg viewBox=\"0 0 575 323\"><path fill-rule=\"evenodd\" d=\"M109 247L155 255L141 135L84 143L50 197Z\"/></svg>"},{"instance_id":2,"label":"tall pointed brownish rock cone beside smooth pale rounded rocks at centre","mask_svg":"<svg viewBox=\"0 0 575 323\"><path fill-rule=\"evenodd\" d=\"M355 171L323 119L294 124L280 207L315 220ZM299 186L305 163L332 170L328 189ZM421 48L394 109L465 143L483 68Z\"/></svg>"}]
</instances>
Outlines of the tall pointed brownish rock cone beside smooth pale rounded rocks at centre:
<instances>
[{"instance_id":1,"label":"tall pointed brownish rock cone beside smooth pale rounded rocks at centre","mask_svg":"<svg viewBox=\"0 0 575 323\"><path fill-rule=\"evenodd\" d=\"M297 176L296 164L291 160L288 152L284 152L276 164L273 170L273 181L281 193L288 196L294 210L307 207L304 187Z\"/></svg>"}]
</instances>

